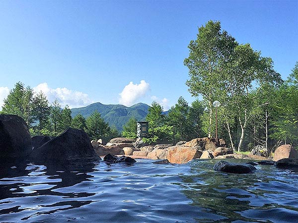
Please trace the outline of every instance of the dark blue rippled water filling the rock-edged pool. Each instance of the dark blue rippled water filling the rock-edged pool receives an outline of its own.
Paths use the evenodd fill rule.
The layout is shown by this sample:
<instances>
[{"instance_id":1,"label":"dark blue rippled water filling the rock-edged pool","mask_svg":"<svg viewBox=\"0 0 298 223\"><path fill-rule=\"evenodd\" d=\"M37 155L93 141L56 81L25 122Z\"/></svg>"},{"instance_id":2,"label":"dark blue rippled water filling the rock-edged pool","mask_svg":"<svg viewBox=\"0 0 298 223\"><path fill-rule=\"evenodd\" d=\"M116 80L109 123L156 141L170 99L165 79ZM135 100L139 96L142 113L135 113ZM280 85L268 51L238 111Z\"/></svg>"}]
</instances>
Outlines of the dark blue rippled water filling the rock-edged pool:
<instances>
[{"instance_id":1,"label":"dark blue rippled water filling the rock-edged pool","mask_svg":"<svg viewBox=\"0 0 298 223\"><path fill-rule=\"evenodd\" d=\"M298 222L297 172L229 174L215 162L1 165L0 222Z\"/></svg>"}]
</instances>

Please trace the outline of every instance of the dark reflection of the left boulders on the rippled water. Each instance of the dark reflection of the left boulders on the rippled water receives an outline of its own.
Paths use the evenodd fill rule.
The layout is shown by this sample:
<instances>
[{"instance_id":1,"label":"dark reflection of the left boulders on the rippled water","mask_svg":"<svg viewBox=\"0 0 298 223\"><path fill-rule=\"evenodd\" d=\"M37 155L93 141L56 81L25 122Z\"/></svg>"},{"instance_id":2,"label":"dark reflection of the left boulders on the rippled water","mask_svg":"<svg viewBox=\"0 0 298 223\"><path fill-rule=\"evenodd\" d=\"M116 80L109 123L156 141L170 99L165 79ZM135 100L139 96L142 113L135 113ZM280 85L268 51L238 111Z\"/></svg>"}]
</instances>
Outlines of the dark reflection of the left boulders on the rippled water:
<instances>
[{"instance_id":1,"label":"dark reflection of the left boulders on the rippled water","mask_svg":"<svg viewBox=\"0 0 298 223\"><path fill-rule=\"evenodd\" d=\"M65 162L38 165L3 161L0 166L0 216L13 220L19 212L28 213L21 220L38 215L79 208L92 203L95 193L72 192L71 188L91 181L98 162ZM5 205L5 208L1 206ZM39 211L41 210L41 211ZM9 214L9 215L8 215ZM14 221L13 221L14 222Z\"/></svg>"}]
</instances>

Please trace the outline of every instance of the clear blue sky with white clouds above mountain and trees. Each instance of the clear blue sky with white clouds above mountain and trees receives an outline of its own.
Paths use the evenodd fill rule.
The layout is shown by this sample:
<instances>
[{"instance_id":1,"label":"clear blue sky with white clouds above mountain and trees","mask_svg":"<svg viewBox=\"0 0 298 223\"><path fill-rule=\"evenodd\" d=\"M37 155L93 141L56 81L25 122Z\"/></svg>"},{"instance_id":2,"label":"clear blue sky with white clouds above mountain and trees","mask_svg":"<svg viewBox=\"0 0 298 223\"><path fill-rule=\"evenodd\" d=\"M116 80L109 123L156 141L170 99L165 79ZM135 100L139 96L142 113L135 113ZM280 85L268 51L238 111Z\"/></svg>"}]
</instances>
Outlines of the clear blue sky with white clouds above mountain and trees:
<instances>
[{"instance_id":1,"label":"clear blue sky with white clouds above mountain and trees","mask_svg":"<svg viewBox=\"0 0 298 223\"><path fill-rule=\"evenodd\" d=\"M183 60L208 20L272 57L283 79L298 60L297 0L1 0L0 104L18 81L72 108L190 104Z\"/></svg>"}]
</instances>

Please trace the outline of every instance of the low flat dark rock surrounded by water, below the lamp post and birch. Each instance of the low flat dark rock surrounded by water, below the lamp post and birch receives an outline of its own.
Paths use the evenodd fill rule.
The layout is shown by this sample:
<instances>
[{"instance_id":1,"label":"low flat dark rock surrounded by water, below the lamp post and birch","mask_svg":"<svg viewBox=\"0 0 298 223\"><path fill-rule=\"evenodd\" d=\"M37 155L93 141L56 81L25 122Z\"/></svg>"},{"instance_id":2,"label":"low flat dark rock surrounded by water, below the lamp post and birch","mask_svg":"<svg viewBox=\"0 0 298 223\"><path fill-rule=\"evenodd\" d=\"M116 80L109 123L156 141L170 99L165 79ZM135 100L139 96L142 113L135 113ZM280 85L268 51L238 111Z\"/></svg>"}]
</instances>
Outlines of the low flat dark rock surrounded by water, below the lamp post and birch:
<instances>
[{"instance_id":1,"label":"low flat dark rock surrounded by water, below the lamp post and birch","mask_svg":"<svg viewBox=\"0 0 298 223\"><path fill-rule=\"evenodd\" d=\"M216 171L231 173L252 173L254 170L256 170L256 167L250 164L236 164L225 161L217 162L213 168Z\"/></svg>"}]
</instances>

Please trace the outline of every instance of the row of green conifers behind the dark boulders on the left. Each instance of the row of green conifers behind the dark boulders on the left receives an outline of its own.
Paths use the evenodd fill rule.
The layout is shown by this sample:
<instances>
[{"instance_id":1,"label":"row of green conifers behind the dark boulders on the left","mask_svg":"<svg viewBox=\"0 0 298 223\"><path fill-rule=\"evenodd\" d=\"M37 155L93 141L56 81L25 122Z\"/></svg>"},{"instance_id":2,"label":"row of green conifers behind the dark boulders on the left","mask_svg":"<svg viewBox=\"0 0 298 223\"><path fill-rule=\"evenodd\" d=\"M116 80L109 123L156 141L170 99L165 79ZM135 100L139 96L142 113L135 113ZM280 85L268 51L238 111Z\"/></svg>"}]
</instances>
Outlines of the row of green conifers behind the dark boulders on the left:
<instances>
[{"instance_id":1,"label":"row of green conifers behind the dark boulders on the left","mask_svg":"<svg viewBox=\"0 0 298 223\"><path fill-rule=\"evenodd\" d=\"M46 95L40 91L35 94L33 89L17 82L3 100L2 114L15 114L22 117L34 135L57 136L68 127L85 131L91 139L106 139L119 136L115 126L109 126L98 111L85 118L81 114L72 117L69 106L64 108L56 99L49 103Z\"/></svg>"}]
</instances>

